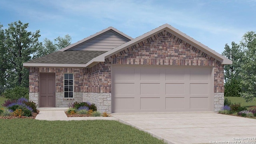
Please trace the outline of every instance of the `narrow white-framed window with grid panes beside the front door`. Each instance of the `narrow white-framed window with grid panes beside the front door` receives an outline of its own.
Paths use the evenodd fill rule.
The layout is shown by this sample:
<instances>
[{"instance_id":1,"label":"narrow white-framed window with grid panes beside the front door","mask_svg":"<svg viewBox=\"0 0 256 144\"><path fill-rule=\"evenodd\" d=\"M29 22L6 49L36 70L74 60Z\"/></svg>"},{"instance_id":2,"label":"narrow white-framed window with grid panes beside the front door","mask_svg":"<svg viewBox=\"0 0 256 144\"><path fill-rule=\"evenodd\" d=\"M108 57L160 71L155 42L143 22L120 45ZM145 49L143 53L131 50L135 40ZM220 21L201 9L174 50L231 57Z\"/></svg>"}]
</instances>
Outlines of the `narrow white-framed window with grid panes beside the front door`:
<instances>
[{"instance_id":1,"label":"narrow white-framed window with grid panes beside the front door","mask_svg":"<svg viewBox=\"0 0 256 144\"><path fill-rule=\"evenodd\" d=\"M73 98L73 74L64 74L64 98Z\"/></svg>"}]
</instances>

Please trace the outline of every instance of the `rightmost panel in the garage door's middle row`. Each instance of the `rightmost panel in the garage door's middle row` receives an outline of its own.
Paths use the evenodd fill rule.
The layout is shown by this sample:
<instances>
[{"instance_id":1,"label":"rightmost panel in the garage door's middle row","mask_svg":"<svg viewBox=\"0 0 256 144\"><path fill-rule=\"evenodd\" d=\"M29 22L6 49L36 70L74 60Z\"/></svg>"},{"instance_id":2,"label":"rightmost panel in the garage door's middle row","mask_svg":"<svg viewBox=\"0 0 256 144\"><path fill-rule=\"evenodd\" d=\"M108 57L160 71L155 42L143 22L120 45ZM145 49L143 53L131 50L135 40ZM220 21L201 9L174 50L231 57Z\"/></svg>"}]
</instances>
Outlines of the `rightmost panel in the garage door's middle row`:
<instances>
[{"instance_id":1,"label":"rightmost panel in the garage door's middle row","mask_svg":"<svg viewBox=\"0 0 256 144\"><path fill-rule=\"evenodd\" d=\"M209 94L209 85L190 84L190 94Z\"/></svg>"}]
</instances>

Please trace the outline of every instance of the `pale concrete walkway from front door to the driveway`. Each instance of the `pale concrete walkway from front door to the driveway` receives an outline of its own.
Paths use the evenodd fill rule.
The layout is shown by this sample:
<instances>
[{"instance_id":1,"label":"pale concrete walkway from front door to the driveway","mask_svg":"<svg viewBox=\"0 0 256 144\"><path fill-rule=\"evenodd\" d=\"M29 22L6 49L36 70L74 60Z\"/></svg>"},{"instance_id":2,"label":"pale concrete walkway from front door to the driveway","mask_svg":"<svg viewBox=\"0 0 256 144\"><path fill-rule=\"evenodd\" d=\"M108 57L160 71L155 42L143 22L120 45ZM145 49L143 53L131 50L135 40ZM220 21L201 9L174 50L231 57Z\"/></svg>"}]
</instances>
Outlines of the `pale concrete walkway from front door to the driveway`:
<instances>
[{"instance_id":1,"label":"pale concrete walkway from front door to the driveway","mask_svg":"<svg viewBox=\"0 0 256 144\"><path fill-rule=\"evenodd\" d=\"M40 111L36 120L117 120L114 117L67 117L68 108L38 108Z\"/></svg>"}]
</instances>

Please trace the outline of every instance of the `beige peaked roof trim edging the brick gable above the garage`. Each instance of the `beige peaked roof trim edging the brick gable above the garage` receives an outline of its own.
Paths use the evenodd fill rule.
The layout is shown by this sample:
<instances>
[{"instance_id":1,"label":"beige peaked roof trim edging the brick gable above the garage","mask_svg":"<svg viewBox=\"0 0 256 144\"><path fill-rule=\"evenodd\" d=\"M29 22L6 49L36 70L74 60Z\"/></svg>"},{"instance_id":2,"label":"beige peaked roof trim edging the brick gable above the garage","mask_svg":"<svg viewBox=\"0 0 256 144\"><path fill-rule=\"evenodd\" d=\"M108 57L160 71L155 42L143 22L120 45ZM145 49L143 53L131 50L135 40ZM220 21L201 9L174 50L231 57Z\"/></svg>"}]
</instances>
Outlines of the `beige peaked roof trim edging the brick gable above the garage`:
<instances>
[{"instance_id":1,"label":"beige peaked roof trim edging the brick gable above the garage","mask_svg":"<svg viewBox=\"0 0 256 144\"><path fill-rule=\"evenodd\" d=\"M228 58L222 56L218 52L215 52L214 50L208 48L204 44L201 44L200 42L194 40L190 36L184 34L183 32L179 31L178 29L170 26L169 24L164 24L154 30L151 30L150 32L147 32L146 34L143 34L142 36L139 36L129 42L126 42L125 44L122 44L121 46L118 46L117 48L110 50L100 56L97 56L96 58L92 59L90 62L88 62L86 65L89 66L93 62L104 62L106 58L121 52L122 50L125 50L126 48L133 46L135 44L138 44L140 42L143 42L144 40L150 38L151 36L154 36L155 34L158 34L162 31L166 30L170 34L173 34L174 36L178 37L180 40L185 41L187 44L190 44L191 46L194 46L198 50L204 52L205 54L208 54L212 58L215 58L218 60L221 64L232 64L232 61Z\"/></svg>"}]
</instances>

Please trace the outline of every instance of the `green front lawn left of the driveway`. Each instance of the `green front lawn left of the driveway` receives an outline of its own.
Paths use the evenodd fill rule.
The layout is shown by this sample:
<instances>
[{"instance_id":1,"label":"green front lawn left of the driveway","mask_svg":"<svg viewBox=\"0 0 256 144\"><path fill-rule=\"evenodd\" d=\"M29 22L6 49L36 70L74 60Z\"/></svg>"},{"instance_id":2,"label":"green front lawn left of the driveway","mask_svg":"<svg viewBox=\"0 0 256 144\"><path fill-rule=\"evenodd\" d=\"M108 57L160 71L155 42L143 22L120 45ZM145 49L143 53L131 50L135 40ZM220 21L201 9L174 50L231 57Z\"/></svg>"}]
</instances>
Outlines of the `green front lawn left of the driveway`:
<instances>
[{"instance_id":1,"label":"green front lawn left of the driveway","mask_svg":"<svg viewBox=\"0 0 256 144\"><path fill-rule=\"evenodd\" d=\"M2 144L164 144L150 134L112 120L0 119Z\"/></svg>"}]
</instances>

